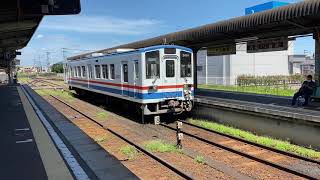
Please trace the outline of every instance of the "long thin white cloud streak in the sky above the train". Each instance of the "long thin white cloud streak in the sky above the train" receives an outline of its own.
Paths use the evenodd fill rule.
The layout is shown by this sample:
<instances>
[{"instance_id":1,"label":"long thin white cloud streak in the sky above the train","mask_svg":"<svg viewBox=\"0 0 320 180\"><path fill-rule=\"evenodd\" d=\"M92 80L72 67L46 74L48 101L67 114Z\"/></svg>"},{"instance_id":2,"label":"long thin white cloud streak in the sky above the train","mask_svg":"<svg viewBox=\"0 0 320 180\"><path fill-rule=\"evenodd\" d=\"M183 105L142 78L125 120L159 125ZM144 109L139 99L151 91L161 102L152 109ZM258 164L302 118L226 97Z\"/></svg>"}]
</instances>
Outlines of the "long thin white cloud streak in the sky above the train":
<instances>
[{"instance_id":1,"label":"long thin white cloud streak in the sky above the train","mask_svg":"<svg viewBox=\"0 0 320 180\"><path fill-rule=\"evenodd\" d=\"M150 33L161 25L158 20L122 19L110 16L59 16L47 17L40 25L49 30L74 31L81 33L109 33L140 35Z\"/></svg>"}]
</instances>

